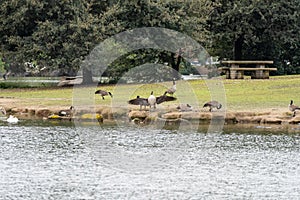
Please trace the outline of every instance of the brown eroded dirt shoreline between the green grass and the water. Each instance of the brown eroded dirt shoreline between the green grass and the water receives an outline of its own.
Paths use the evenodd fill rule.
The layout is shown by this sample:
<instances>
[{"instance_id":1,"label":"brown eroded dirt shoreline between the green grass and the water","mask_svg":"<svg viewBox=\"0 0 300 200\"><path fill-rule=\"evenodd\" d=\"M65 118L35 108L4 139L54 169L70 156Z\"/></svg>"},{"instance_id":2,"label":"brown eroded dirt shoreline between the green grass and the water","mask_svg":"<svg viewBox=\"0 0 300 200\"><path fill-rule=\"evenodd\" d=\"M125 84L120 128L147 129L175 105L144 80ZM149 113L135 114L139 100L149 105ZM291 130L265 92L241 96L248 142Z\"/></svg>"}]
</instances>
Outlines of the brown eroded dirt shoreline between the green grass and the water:
<instances>
[{"instance_id":1,"label":"brown eroded dirt shoreline between the green grass and the water","mask_svg":"<svg viewBox=\"0 0 300 200\"><path fill-rule=\"evenodd\" d=\"M133 122L135 124L148 124L157 121L166 123L178 123L181 121L199 122L209 124L211 120L224 120L224 124L300 124L300 114L295 117L291 112L284 111L178 111L176 108L157 109L155 111L138 110L136 107L87 107L79 108L73 116L61 117L59 110L65 109L61 106L22 106L5 107L7 117L11 114L19 119L44 119L44 120L81 120L99 121L101 123L116 120Z\"/></svg>"}]
</instances>

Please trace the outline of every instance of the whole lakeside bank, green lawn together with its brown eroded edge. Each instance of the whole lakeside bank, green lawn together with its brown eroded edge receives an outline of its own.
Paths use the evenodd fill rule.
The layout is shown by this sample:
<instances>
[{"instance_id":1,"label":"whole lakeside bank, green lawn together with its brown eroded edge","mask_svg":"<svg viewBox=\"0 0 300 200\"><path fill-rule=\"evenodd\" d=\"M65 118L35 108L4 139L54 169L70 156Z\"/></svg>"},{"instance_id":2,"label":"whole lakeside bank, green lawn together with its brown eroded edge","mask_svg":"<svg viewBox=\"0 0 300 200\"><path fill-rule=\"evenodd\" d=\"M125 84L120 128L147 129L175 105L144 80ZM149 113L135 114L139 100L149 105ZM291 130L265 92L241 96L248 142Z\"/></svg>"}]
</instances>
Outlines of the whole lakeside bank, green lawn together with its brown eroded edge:
<instances>
[{"instance_id":1,"label":"whole lakeside bank, green lawn together with its brown eroded edge","mask_svg":"<svg viewBox=\"0 0 300 200\"><path fill-rule=\"evenodd\" d=\"M76 93L80 94L78 96L74 96L74 88L71 87L0 89L0 106L7 111L7 115L3 118L12 114L19 119L33 120L94 120L98 118L103 123L121 120L121 122L141 124L156 121L158 123L190 121L210 124L213 119L224 120L224 124L299 124L300 117L297 114L296 117L292 117L292 112L287 108L291 99L294 99L295 105L298 105L299 80L299 75L272 77L269 80L224 79L226 102L220 110L212 113L201 107L211 99L210 91L203 80L187 82L188 88L195 95L194 104L191 103L191 93L187 90L185 81L178 81L178 101L160 104L155 112L139 111L139 106L128 105L125 102L136 95L149 96L148 91L152 90L155 94L160 94L167 86L170 86L170 82L118 85L118 87L102 85L101 89L114 94L114 99L108 97L105 100L94 95L95 87L82 88L82 92ZM211 83L214 84L214 80L211 80ZM81 99L85 99L86 95L89 95L88 101L82 102ZM194 107L193 111L178 111L176 106L181 103L189 103ZM59 110L69 109L72 104L76 107L76 115L73 118L57 116ZM300 115L300 112L298 114Z\"/></svg>"}]
</instances>

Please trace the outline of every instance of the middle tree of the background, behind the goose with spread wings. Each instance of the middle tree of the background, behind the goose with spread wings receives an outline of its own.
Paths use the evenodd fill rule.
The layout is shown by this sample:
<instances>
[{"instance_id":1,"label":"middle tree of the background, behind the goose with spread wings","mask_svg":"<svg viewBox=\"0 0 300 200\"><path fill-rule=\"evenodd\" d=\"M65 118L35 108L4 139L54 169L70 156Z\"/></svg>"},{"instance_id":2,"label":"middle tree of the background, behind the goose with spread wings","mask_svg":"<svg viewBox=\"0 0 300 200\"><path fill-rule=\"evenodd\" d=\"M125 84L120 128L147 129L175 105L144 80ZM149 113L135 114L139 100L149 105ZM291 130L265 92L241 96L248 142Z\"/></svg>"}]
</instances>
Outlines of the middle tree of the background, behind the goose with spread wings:
<instances>
[{"instance_id":1,"label":"middle tree of the background, behind the goose with spread wings","mask_svg":"<svg viewBox=\"0 0 300 200\"><path fill-rule=\"evenodd\" d=\"M205 22L212 8L213 3L205 0L124 1L109 8L102 19L106 32L110 30L111 24L117 24L120 30L131 30L139 27L162 27L185 33L206 46L208 32L205 29ZM112 32L115 34L114 31ZM179 71L179 66L183 61L182 54L187 54L184 51L184 46L178 48L177 52L141 49L125 55L110 65L107 73L110 76L118 77L126 69L140 65L145 61L161 64L167 62L175 71ZM123 66L121 63L126 63L127 68L121 67ZM174 74L174 76L177 76L177 74Z\"/></svg>"}]
</instances>

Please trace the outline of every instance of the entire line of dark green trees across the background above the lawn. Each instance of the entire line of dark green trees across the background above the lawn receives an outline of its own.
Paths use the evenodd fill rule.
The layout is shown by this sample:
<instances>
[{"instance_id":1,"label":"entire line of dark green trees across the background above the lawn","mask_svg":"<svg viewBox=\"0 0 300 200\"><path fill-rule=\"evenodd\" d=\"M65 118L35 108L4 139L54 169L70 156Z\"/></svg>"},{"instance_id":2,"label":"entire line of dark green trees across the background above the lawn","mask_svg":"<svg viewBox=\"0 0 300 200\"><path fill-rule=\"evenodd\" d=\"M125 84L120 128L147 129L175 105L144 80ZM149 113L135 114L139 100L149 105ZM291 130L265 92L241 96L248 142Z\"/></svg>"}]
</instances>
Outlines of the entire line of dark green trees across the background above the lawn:
<instances>
[{"instance_id":1,"label":"entire line of dark green trees across the background above the lawn","mask_svg":"<svg viewBox=\"0 0 300 200\"><path fill-rule=\"evenodd\" d=\"M276 73L300 73L299 12L299 0L2 0L0 72L24 74L27 62L47 75L72 76L105 39L163 27L192 37L220 59L274 60ZM188 65L172 52L141 49L105 73L119 78L146 62L168 62L176 70Z\"/></svg>"}]
</instances>

